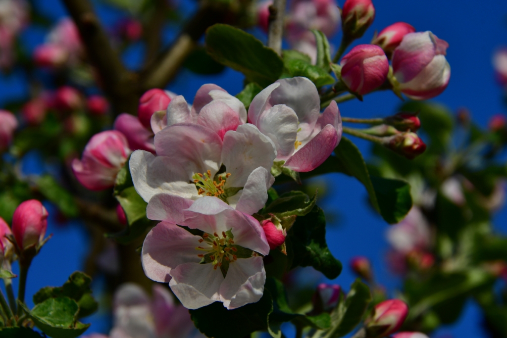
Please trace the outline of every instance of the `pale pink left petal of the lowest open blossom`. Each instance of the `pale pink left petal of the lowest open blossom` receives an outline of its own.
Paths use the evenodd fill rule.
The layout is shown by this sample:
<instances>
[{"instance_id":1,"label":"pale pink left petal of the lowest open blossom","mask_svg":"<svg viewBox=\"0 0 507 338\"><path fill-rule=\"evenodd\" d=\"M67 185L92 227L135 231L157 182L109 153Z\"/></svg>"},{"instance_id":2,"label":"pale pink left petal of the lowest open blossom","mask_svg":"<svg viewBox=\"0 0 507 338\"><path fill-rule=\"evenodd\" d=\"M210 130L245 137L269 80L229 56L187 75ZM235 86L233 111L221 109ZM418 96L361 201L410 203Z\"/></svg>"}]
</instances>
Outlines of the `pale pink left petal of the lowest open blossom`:
<instances>
[{"instance_id":1,"label":"pale pink left petal of the lowest open blossom","mask_svg":"<svg viewBox=\"0 0 507 338\"><path fill-rule=\"evenodd\" d=\"M199 262L195 248L200 236L169 222L160 222L142 243L141 263L146 276L156 282L169 282L169 273L178 265Z\"/></svg>"}]
</instances>

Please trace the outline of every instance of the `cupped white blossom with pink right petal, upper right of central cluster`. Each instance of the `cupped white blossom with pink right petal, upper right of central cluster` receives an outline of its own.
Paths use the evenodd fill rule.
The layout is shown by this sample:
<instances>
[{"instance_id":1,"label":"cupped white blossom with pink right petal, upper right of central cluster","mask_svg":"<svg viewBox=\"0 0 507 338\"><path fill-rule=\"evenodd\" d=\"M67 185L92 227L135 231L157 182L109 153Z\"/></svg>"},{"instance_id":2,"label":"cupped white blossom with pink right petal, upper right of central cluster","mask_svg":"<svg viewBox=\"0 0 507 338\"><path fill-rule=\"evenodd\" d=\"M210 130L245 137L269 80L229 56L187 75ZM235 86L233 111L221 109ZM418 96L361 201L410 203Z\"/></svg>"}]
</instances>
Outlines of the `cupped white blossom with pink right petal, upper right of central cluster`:
<instances>
[{"instance_id":1,"label":"cupped white blossom with pink right petal, upper right of central cluster","mask_svg":"<svg viewBox=\"0 0 507 338\"><path fill-rule=\"evenodd\" d=\"M342 122L336 102L320 110L315 85L307 78L282 79L266 87L248 108L248 122L271 138L275 161L295 171L311 171L340 142Z\"/></svg>"}]
</instances>

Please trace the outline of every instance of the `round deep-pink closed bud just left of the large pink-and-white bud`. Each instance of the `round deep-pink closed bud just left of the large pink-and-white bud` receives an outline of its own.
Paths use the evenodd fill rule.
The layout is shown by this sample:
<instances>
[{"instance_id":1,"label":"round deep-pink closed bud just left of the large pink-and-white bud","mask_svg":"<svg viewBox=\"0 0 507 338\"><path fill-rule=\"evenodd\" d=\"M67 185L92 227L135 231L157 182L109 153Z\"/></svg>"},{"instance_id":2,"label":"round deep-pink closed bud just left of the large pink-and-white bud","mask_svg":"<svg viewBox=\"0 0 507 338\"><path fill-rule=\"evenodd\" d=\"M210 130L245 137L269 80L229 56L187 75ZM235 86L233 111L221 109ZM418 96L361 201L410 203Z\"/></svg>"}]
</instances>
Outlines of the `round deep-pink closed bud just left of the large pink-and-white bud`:
<instances>
[{"instance_id":1,"label":"round deep-pink closed bud just left of the large pink-and-white bud","mask_svg":"<svg viewBox=\"0 0 507 338\"><path fill-rule=\"evenodd\" d=\"M343 82L359 95L380 87L389 72L389 61L384 51L375 45L355 46L342 58L340 65Z\"/></svg>"}]
</instances>

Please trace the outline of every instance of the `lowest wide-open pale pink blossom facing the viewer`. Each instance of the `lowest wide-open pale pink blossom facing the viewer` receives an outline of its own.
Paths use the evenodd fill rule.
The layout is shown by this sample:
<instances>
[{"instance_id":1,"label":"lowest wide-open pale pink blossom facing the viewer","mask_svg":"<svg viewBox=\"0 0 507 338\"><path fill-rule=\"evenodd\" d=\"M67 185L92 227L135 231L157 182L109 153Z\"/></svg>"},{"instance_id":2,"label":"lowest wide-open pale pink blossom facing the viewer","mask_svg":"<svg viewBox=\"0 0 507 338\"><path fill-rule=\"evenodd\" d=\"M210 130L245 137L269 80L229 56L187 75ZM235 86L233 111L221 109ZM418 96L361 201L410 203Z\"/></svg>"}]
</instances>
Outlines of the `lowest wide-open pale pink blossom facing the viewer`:
<instances>
[{"instance_id":1,"label":"lowest wide-open pale pink blossom facing the viewer","mask_svg":"<svg viewBox=\"0 0 507 338\"><path fill-rule=\"evenodd\" d=\"M259 254L269 253L261 224L218 198L205 196L184 210L192 235L162 221L144 239L144 273L169 287L188 309L223 302L227 309L255 303L264 293L266 272Z\"/></svg>"}]
</instances>

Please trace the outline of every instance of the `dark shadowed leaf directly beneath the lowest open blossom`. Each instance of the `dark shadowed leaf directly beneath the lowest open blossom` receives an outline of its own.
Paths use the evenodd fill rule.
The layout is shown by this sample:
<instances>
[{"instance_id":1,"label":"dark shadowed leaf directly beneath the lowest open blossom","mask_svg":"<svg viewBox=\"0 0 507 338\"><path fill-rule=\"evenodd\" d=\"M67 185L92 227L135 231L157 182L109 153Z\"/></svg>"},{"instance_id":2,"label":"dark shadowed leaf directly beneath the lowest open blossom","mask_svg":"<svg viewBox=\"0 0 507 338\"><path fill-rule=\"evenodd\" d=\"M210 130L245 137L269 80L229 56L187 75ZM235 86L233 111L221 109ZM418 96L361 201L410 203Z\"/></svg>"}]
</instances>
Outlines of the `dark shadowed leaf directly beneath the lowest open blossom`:
<instances>
[{"instance_id":1,"label":"dark shadowed leaf directly beneath the lowest open blossom","mask_svg":"<svg viewBox=\"0 0 507 338\"><path fill-rule=\"evenodd\" d=\"M206 336L237 338L267 330L268 317L272 311L271 294L265 289L259 302L234 310L227 310L221 302L215 302L189 312L195 326Z\"/></svg>"}]
</instances>

